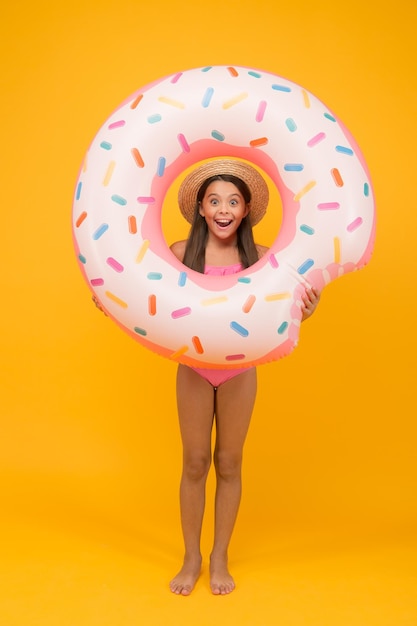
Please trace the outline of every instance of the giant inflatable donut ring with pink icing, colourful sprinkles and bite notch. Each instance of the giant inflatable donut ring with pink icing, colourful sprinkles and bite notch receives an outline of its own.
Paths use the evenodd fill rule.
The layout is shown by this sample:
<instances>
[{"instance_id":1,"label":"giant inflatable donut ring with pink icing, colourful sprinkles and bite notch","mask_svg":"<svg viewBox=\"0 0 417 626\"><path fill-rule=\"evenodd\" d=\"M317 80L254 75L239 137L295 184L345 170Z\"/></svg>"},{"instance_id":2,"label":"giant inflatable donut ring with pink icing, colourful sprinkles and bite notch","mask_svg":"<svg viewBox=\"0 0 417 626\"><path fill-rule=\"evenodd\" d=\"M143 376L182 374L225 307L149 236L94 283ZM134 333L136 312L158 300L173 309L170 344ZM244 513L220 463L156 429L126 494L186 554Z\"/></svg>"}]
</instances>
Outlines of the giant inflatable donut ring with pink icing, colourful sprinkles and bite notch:
<instances>
[{"instance_id":1,"label":"giant inflatable donut ring with pink icing, colourful sprinkles and bite notch","mask_svg":"<svg viewBox=\"0 0 417 626\"><path fill-rule=\"evenodd\" d=\"M283 204L269 252L225 277L182 265L161 226L173 181L217 157L263 170ZM305 287L361 268L374 232L369 173L347 129L306 89L245 67L192 69L133 94L93 140L73 203L79 265L106 312L142 345L195 367L289 354Z\"/></svg>"}]
</instances>

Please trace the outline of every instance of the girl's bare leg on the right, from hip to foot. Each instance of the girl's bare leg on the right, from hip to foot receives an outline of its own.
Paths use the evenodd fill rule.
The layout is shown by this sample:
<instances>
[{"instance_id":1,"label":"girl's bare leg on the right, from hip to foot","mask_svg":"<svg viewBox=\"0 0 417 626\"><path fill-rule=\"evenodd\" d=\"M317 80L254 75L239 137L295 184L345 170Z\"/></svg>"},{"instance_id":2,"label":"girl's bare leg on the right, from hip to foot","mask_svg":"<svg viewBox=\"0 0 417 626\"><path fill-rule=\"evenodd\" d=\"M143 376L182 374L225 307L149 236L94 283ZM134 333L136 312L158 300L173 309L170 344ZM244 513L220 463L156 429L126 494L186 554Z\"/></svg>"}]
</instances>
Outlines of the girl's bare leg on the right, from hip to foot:
<instances>
[{"instance_id":1,"label":"girl's bare leg on the right, from hip to foot","mask_svg":"<svg viewBox=\"0 0 417 626\"><path fill-rule=\"evenodd\" d=\"M228 547L242 492L242 455L256 397L256 370L246 370L219 386L216 394L217 476L215 535L210 558L211 590L228 594L235 583L228 570Z\"/></svg>"}]
</instances>

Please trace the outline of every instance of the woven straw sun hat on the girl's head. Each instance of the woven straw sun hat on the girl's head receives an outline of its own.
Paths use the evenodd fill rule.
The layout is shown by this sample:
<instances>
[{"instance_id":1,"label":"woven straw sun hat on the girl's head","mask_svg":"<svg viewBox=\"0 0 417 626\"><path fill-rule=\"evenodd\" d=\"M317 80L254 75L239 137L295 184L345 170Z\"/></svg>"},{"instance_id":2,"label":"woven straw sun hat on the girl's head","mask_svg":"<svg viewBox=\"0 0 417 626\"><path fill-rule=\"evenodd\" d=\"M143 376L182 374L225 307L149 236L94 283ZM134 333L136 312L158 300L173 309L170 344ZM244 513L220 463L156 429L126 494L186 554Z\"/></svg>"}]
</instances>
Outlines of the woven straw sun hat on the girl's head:
<instances>
[{"instance_id":1,"label":"woven straw sun hat on the girl's head","mask_svg":"<svg viewBox=\"0 0 417 626\"><path fill-rule=\"evenodd\" d=\"M254 167L233 159L209 161L184 178L178 191L178 204L185 219L192 224L197 193L201 185L207 178L219 174L232 174L247 184L251 192L250 221L252 226L255 226L265 215L268 206L268 186Z\"/></svg>"}]
</instances>

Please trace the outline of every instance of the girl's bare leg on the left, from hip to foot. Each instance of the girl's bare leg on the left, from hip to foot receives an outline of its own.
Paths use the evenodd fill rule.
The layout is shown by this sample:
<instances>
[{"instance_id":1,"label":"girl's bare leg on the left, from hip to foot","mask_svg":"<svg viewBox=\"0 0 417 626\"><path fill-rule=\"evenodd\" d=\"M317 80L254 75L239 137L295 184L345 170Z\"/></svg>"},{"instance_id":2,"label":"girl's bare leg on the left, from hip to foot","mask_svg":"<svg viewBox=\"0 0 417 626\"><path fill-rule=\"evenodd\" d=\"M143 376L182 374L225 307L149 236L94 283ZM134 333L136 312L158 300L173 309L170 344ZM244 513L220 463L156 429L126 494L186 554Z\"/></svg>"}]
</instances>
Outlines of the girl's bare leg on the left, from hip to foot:
<instances>
[{"instance_id":1,"label":"girl's bare leg on the left, from hip to foot","mask_svg":"<svg viewBox=\"0 0 417 626\"><path fill-rule=\"evenodd\" d=\"M184 365L178 367L177 403L183 445L180 507L185 555L181 570L170 582L171 591L178 595L191 593L201 570L200 537L211 464L214 393L199 374Z\"/></svg>"}]
</instances>

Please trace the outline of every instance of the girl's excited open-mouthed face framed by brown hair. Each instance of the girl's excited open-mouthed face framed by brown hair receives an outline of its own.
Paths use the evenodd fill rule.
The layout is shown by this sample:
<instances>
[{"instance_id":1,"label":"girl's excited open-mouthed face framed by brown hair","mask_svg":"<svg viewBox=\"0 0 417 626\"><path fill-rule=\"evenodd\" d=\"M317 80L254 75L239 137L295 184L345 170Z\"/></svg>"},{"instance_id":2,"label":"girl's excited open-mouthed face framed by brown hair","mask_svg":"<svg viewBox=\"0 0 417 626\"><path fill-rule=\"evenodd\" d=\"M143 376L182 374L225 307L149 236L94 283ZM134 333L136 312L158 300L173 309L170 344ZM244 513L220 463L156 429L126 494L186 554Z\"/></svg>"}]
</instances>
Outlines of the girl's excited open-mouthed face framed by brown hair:
<instances>
[{"instance_id":1,"label":"girl's excited open-mouthed face framed by brown hair","mask_svg":"<svg viewBox=\"0 0 417 626\"><path fill-rule=\"evenodd\" d=\"M207 187L199 205L210 236L227 241L236 238L242 220L249 213L239 189L233 183L215 180Z\"/></svg>"}]
</instances>

